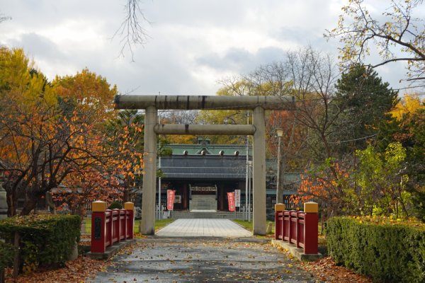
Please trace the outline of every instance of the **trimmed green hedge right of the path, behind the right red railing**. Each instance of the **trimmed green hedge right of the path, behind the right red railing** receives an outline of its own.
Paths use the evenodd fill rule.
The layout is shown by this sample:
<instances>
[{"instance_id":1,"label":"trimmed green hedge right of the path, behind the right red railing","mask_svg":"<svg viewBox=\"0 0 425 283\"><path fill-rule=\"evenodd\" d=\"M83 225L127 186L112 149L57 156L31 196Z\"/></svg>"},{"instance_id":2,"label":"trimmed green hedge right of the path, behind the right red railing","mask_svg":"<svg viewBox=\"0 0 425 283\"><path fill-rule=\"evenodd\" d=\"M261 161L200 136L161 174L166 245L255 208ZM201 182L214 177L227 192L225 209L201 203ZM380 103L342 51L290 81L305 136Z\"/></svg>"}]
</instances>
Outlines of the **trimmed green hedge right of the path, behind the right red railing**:
<instances>
[{"instance_id":1,"label":"trimmed green hedge right of the path, behind the right red railing","mask_svg":"<svg viewBox=\"0 0 425 283\"><path fill-rule=\"evenodd\" d=\"M328 253L337 264L385 282L425 282L425 230L400 224L327 221Z\"/></svg>"}]
</instances>

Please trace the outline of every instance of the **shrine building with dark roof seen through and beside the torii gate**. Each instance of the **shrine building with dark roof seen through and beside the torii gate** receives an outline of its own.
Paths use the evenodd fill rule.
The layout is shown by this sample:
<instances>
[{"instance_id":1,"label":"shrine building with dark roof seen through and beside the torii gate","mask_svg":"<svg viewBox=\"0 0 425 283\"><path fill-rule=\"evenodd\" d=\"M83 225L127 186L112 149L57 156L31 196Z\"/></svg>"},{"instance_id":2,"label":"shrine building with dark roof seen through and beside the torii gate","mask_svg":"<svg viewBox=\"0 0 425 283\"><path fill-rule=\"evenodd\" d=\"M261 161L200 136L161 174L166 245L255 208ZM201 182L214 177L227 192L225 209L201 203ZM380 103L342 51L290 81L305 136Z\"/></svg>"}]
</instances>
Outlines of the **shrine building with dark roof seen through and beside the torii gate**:
<instances>
[{"instance_id":1,"label":"shrine building with dark roof seen through and beside the torii gate","mask_svg":"<svg viewBox=\"0 0 425 283\"><path fill-rule=\"evenodd\" d=\"M246 204L246 146L210 144L208 139L199 139L198 144L167 147L173 154L161 158L163 207L166 207L166 190L176 191L174 210L227 212L227 192L234 190L241 190L241 205ZM249 149L249 163L251 160ZM276 159L266 160L266 167L266 201L271 209L276 203ZM299 183L300 173L284 174L283 199L287 207Z\"/></svg>"}]
</instances>

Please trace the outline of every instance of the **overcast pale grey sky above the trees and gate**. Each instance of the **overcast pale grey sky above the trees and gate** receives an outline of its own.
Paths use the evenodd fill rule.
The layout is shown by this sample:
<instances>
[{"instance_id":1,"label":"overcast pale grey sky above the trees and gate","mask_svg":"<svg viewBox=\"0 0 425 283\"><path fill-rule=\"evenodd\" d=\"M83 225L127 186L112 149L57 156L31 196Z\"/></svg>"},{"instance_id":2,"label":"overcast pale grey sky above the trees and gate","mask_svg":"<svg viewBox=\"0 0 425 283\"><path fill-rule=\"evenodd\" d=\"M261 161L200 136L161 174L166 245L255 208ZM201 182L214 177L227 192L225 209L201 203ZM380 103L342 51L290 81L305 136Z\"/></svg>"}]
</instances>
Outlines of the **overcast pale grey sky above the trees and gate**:
<instances>
[{"instance_id":1,"label":"overcast pale grey sky above the trees and gate","mask_svg":"<svg viewBox=\"0 0 425 283\"><path fill-rule=\"evenodd\" d=\"M389 1L385 1L389 2ZM49 79L85 67L120 93L214 95L227 76L247 74L312 45L337 56L334 28L343 0L143 0L149 39L120 56L125 0L0 0L0 44L22 47ZM381 1L382 3L382 1ZM398 88L402 65L380 76Z\"/></svg>"}]
</instances>

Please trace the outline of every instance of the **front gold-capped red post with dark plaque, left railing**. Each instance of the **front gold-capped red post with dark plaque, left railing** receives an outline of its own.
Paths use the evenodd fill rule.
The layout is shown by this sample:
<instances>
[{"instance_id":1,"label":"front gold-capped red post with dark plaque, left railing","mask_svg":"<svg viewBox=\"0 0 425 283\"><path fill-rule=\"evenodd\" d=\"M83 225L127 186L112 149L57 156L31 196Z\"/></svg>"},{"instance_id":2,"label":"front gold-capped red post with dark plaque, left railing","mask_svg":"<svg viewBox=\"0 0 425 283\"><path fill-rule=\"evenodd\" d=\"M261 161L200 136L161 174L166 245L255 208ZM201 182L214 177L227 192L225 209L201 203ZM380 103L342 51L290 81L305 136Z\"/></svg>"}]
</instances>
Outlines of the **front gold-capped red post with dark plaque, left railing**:
<instances>
[{"instance_id":1,"label":"front gold-capped red post with dark plaque, left railing","mask_svg":"<svg viewBox=\"0 0 425 283\"><path fill-rule=\"evenodd\" d=\"M106 202L96 201L91 203L91 253L105 253Z\"/></svg>"}]
</instances>

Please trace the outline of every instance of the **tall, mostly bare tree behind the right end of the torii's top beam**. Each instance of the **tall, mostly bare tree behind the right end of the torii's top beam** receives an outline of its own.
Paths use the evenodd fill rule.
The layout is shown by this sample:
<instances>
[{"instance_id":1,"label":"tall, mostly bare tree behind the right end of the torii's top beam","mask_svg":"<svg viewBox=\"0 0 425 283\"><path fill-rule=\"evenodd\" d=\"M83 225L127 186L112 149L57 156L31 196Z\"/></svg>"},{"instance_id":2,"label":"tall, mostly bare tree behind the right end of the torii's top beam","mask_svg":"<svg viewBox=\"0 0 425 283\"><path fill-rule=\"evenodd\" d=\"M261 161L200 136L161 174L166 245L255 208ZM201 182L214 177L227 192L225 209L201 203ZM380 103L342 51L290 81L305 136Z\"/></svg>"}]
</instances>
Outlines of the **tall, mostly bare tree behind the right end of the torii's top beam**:
<instances>
[{"instance_id":1,"label":"tall, mostly bare tree behind the right end of the torii's top beam","mask_svg":"<svg viewBox=\"0 0 425 283\"><path fill-rule=\"evenodd\" d=\"M341 113L334 103L338 75L329 55L306 47L288 52L282 62L259 67L246 79L253 84L251 89L261 90L261 94L269 89L269 95L295 98L293 112L297 125L309 129L305 142L311 158L322 162L334 157L330 137Z\"/></svg>"}]
</instances>

